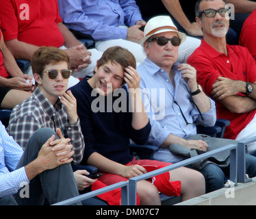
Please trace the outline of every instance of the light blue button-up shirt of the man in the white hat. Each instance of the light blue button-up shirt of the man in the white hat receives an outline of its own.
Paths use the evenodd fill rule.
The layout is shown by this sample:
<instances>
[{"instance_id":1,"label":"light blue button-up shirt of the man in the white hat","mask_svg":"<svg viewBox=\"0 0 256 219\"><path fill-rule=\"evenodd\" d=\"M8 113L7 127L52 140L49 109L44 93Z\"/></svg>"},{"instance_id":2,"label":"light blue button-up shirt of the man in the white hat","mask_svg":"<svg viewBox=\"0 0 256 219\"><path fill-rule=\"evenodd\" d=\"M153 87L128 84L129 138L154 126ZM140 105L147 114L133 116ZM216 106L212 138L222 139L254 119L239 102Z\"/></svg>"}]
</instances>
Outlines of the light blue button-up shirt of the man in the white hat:
<instances>
[{"instance_id":1,"label":"light blue button-up shirt of the man in the white hat","mask_svg":"<svg viewBox=\"0 0 256 219\"><path fill-rule=\"evenodd\" d=\"M188 123L201 121L199 111L190 101L190 89L181 78L181 72L177 70L179 63L175 63L172 69L175 71L175 89L172 86L166 70L159 68L156 64L146 58L138 66L140 74L140 89L146 113L151 121L151 134L149 143L160 146L170 133L180 138L186 138L196 134L195 125L186 125L181 110ZM181 107L174 103L176 100ZM211 109L202 113L204 126L213 126L216 123L216 107L211 101Z\"/></svg>"}]
</instances>

